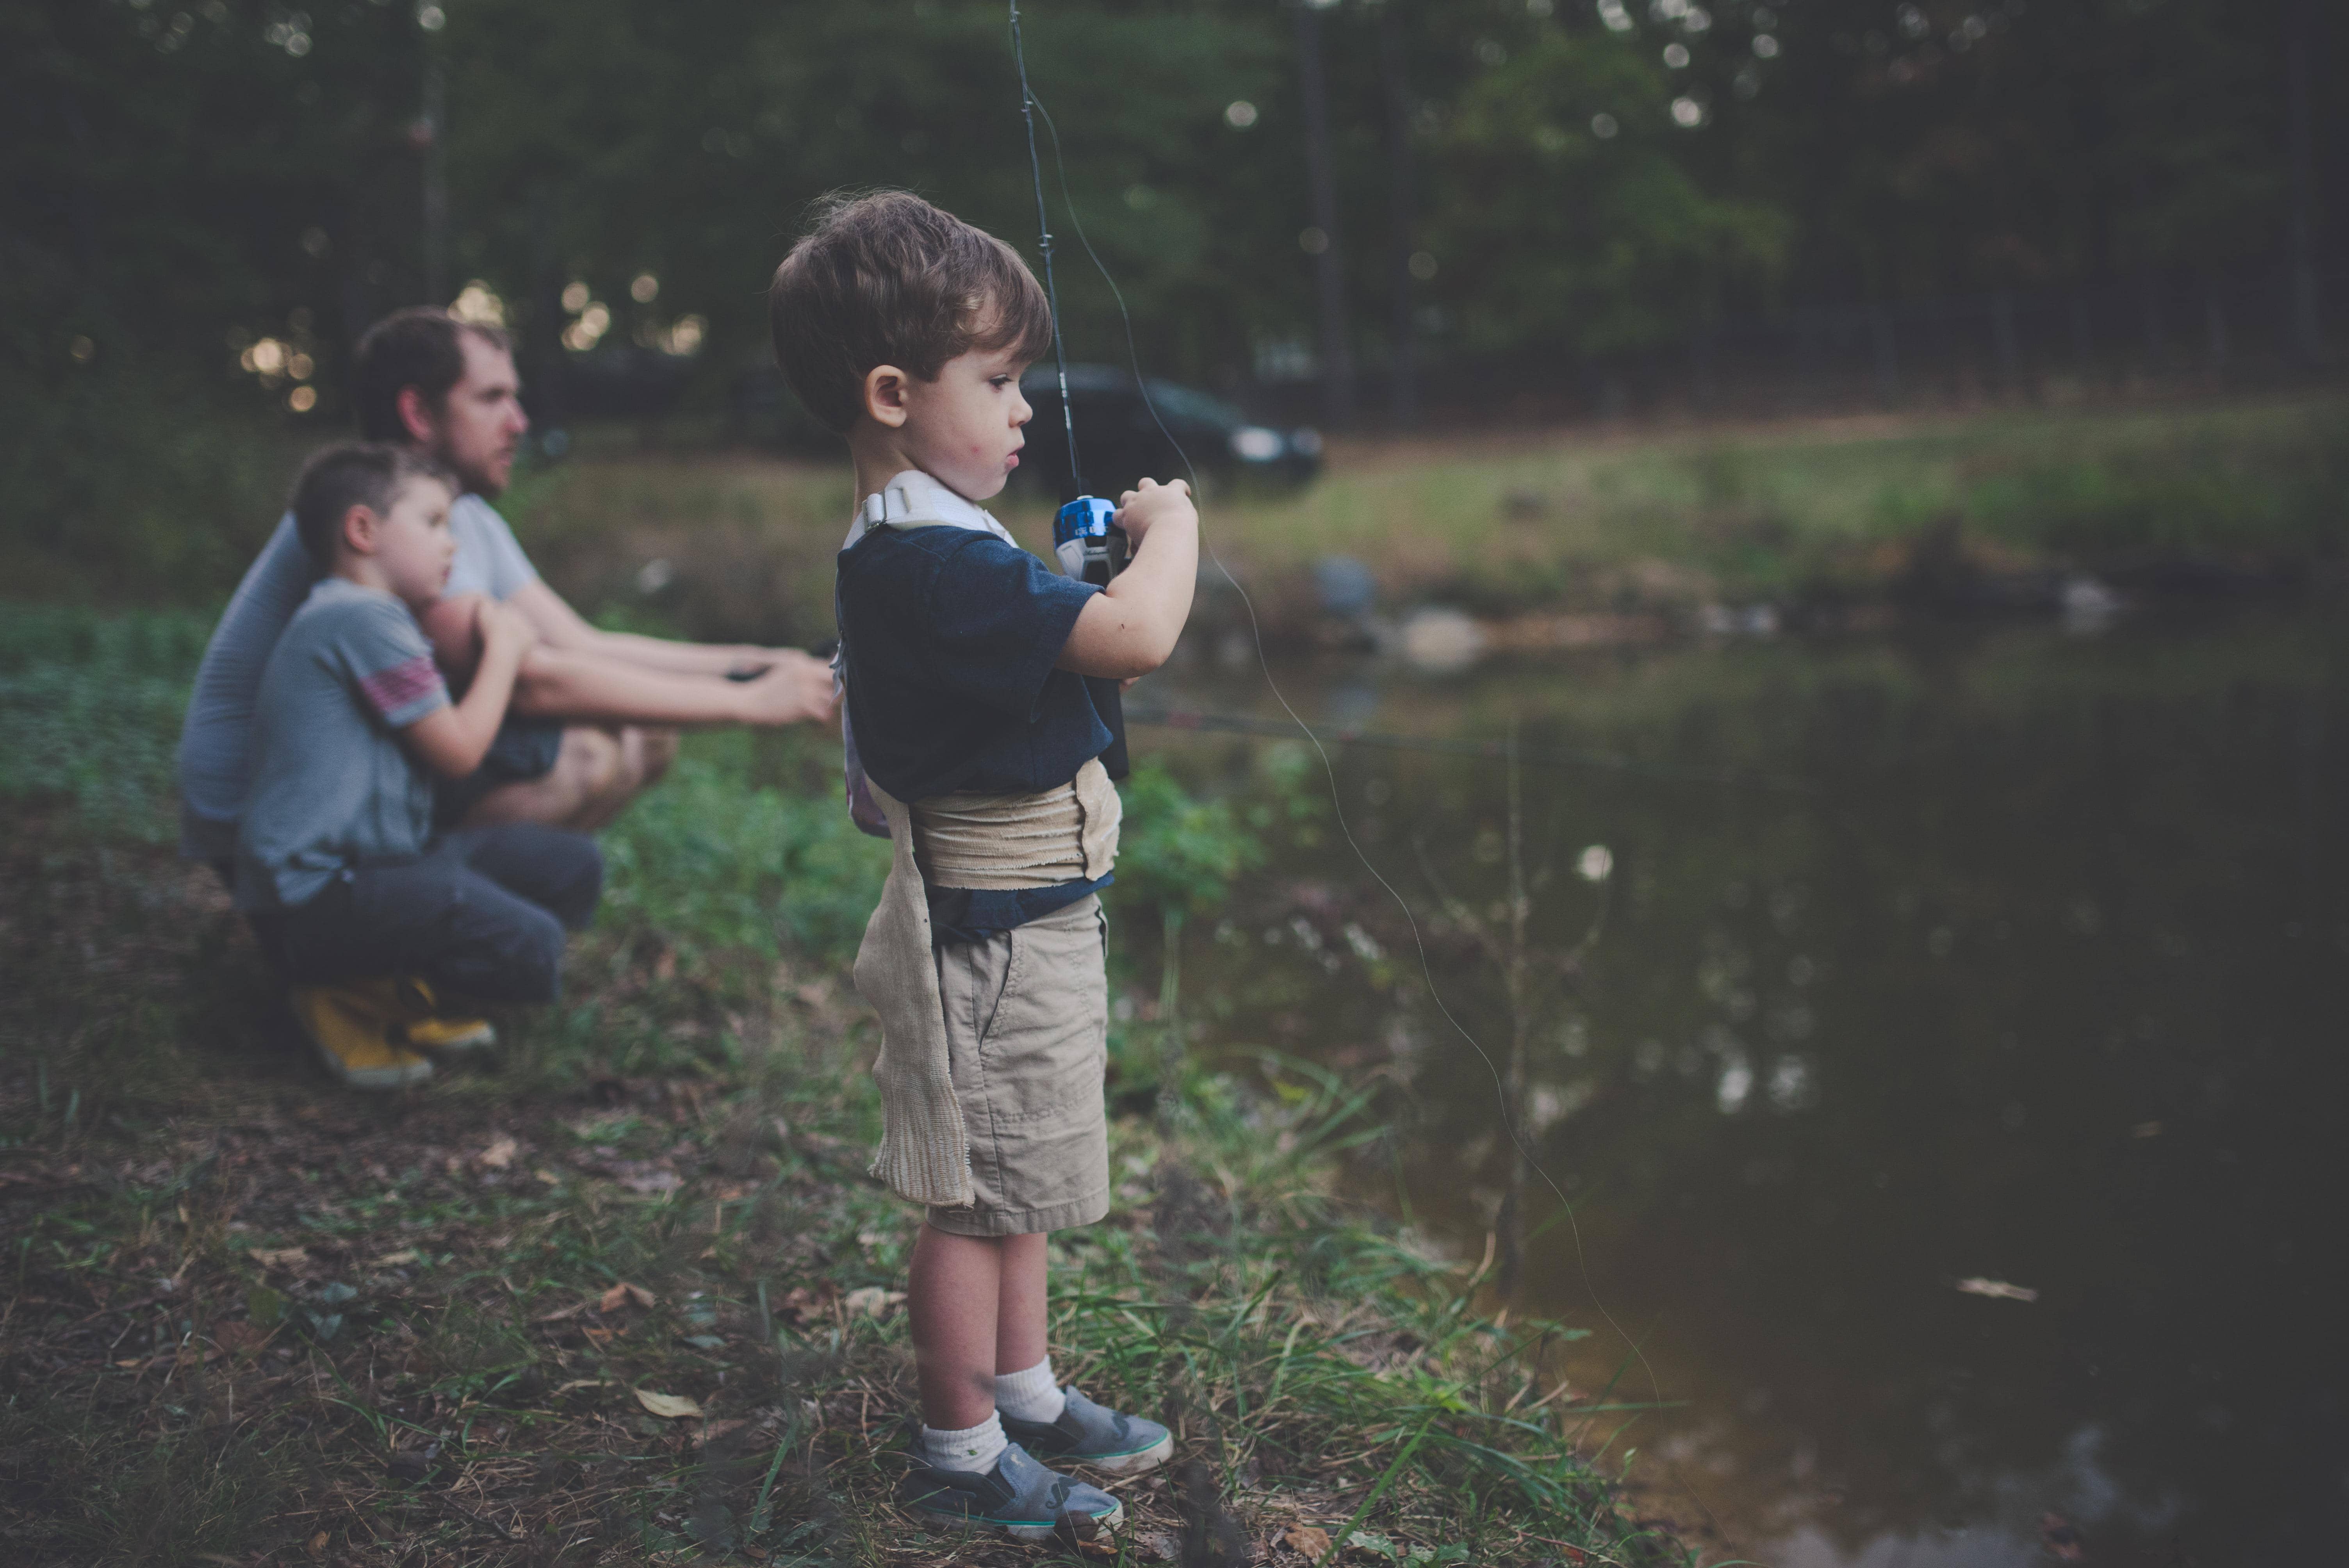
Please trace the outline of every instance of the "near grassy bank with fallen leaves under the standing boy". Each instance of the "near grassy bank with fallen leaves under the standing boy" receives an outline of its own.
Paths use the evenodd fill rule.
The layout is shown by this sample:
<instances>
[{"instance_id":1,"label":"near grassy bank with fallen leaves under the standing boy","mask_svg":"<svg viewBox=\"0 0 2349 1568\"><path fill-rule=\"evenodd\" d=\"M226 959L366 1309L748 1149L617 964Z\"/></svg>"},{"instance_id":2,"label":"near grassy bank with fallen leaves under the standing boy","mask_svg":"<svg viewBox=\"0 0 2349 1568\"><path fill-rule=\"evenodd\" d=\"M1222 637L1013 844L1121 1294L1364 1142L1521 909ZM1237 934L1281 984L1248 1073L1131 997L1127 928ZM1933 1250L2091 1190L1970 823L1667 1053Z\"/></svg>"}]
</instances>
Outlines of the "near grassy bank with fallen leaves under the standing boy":
<instances>
[{"instance_id":1,"label":"near grassy bank with fallen leaves under the standing boy","mask_svg":"<svg viewBox=\"0 0 2349 1568\"><path fill-rule=\"evenodd\" d=\"M834 758L688 746L606 836L568 998L486 1068L352 1096L164 843L200 622L7 627L9 1561L1034 1556L883 1507L911 1216L862 1176L843 960L879 861L815 789ZM1137 892L1212 897L1236 824L1151 789L1189 836L1142 852ZM1160 1082L1149 1002L1118 1012L1116 1209L1059 1242L1055 1357L1170 1420L1182 1462L1123 1486L1130 1528L1085 1556L1677 1561L1604 1479L1621 1418L1525 1373L1571 1331L1480 1317L1330 1195L1367 1131L1344 1084Z\"/></svg>"}]
</instances>

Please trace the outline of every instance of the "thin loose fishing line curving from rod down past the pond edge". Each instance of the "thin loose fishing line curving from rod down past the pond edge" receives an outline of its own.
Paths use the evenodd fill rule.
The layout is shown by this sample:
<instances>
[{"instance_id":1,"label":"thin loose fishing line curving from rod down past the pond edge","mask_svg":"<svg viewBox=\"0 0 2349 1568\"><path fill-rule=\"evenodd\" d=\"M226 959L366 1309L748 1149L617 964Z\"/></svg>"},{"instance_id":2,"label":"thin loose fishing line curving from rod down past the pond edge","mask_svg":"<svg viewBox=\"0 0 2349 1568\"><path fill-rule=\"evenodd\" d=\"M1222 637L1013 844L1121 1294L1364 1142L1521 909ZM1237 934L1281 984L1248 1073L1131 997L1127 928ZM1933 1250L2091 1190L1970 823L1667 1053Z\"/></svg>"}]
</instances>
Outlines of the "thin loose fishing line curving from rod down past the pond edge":
<instances>
[{"instance_id":1,"label":"thin loose fishing line curving from rod down past the pond edge","mask_svg":"<svg viewBox=\"0 0 2349 1568\"><path fill-rule=\"evenodd\" d=\"M1118 289L1118 279L1109 272L1109 265L1102 261L1102 254L1092 249L1092 239L1085 235L1085 221L1078 214L1076 197L1069 195L1069 160L1066 160L1066 155L1062 153L1062 146L1059 146L1059 127L1052 122L1052 113L1043 106L1043 99L1038 99L1036 92L1029 87L1029 80L1027 80L1027 56L1019 52L1019 0L1010 0L1010 16L1012 16L1012 56L1015 56L1015 61L1019 66L1022 115L1027 115L1029 108L1034 108L1034 113L1043 115L1045 131L1052 138L1052 169L1055 169L1057 181L1059 181L1062 207L1066 207L1066 211L1069 211L1069 228L1076 230L1076 242L1081 246L1085 246L1085 256L1092 258L1092 268L1102 275L1102 282L1109 284L1109 296L1118 303L1118 319L1125 324L1125 354L1128 354L1128 361L1132 364L1132 371L1135 371L1135 390L1142 394L1142 406L1149 408L1151 423L1158 427L1158 434L1165 437L1167 446L1172 446L1174 455L1182 460L1184 474L1189 474L1189 479L1191 479L1191 495L1193 495L1193 505L1196 505L1198 502L1198 493L1200 493L1200 488L1198 488L1198 467L1191 462L1191 453L1184 448L1184 444L1174 439L1174 432L1167 430L1165 418L1160 418L1160 413L1158 413L1156 399L1151 399L1149 378L1142 373L1142 347L1135 340L1135 317L1125 307L1125 291ZM1029 164L1031 164L1031 174L1036 178L1036 188L1041 192L1043 190L1043 164L1036 160L1036 122L1034 120L1029 120ZM1057 307L1055 307L1055 317L1052 317L1052 340L1059 343L1059 312L1057 312ZM1059 406L1062 406L1062 418L1069 418L1066 376L1062 376ZM1071 430L1073 430L1073 425L1071 425ZM1071 434L1071 441L1073 441L1073 434ZM1205 526L1200 526L1198 538L1200 538L1200 545L1207 549L1207 559L1214 563L1214 570L1224 575L1224 582L1231 584L1231 592L1240 596L1240 606L1247 610L1247 629L1250 629L1250 636L1257 643L1257 667L1264 671L1264 685L1266 685L1266 690L1273 692L1273 702L1280 704L1280 711L1290 716L1290 723L1294 723L1297 730L1304 732L1306 742L1311 742L1311 746L1313 746L1313 753L1320 756L1322 775L1330 779L1330 810L1337 815L1337 826L1339 826L1339 833L1346 838L1346 847L1353 850L1353 857L1358 861L1362 861L1362 869L1369 871L1372 880L1377 880L1379 887L1386 890L1386 897L1395 901L1395 908L1402 911L1402 920L1405 920L1405 925L1412 932L1412 946L1419 951L1419 972L1421 972L1421 976L1428 984L1428 1000L1435 1002L1435 1012L1442 1014L1445 1023L1449 1023L1452 1030L1461 1040L1466 1040L1468 1047L1485 1061L1485 1070L1492 1073L1494 1099L1496 1099L1496 1103L1501 1108L1501 1129L1508 1134L1508 1141L1515 1145L1515 1150L1525 1157L1527 1169L1534 1171L1536 1176L1541 1176L1541 1185L1546 1185L1550 1190L1550 1195L1557 1197L1557 1207L1567 1216L1567 1230L1574 1237L1574 1261L1576 1261L1576 1268L1581 1268L1583 1291L1590 1296L1590 1305L1597 1307L1600 1317L1607 1319L1607 1326L1614 1329L1616 1336L1626 1345L1630 1345L1630 1352L1635 1357L1640 1357L1640 1366L1647 1371L1649 1390L1656 1394L1656 1401L1663 1404L1663 1383L1656 1378L1656 1366L1647 1359L1647 1352L1640 1347L1640 1340L1635 1340L1623 1329L1623 1324L1616 1322L1614 1312L1607 1310L1607 1303L1600 1300L1597 1282L1590 1277L1590 1258L1583 1251L1583 1228L1581 1228L1581 1221L1574 1216L1574 1204L1567 1199L1564 1188L1560 1188L1557 1181L1550 1178L1550 1171L1543 1169L1541 1160L1534 1153L1532 1141L1525 1134L1525 1127L1510 1117L1508 1084L1501 1080L1499 1063L1494 1063L1492 1054L1482 1047L1482 1042L1478 1042L1478 1038L1473 1033L1468 1033L1468 1026L1459 1021L1459 1016L1445 1002L1442 991L1438 991L1438 986L1435 986L1435 965L1428 958L1428 941L1419 932L1419 915L1412 913L1412 901L1402 897L1402 890L1398 890L1391 880L1386 880L1386 873L1379 871L1377 864L1372 864L1372 859L1362 850L1360 840L1355 840L1353 824L1346 822L1346 803L1344 803L1339 784L1337 784L1337 763L1330 761L1330 749L1322 746L1320 735L1315 735L1313 725L1308 725L1297 714L1297 709L1287 699L1287 692L1280 690L1280 681L1273 678L1273 662L1264 653L1264 622L1257 617L1257 601L1250 599L1247 587L1243 587L1240 580L1231 573L1231 568L1224 566L1224 556L1217 554L1214 540L1207 538L1207 528Z\"/></svg>"}]
</instances>

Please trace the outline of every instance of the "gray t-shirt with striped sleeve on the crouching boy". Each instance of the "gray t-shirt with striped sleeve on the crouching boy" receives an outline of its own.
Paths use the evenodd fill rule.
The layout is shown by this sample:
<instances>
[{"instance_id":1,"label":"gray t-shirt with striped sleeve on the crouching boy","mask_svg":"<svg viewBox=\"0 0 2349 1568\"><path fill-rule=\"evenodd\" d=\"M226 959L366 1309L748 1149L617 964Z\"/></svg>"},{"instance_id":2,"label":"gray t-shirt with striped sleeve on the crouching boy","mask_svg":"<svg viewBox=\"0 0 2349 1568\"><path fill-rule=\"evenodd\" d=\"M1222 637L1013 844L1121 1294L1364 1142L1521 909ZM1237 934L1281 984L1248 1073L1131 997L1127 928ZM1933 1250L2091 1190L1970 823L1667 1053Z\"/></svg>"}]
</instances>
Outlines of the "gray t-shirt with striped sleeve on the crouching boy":
<instances>
[{"instance_id":1,"label":"gray t-shirt with striped sleeve on the crouching boy","mask_svg":"<svg viewBox=\"0 0 2349 1568\"><path fill-rule=\"evenodd\" d=\"M345 866L423 854L432 775L399 730L444 707L449 688L404 603L343 577L310 589L254 704L237 908L294 908Z\"/></svg>"}]
</instances>

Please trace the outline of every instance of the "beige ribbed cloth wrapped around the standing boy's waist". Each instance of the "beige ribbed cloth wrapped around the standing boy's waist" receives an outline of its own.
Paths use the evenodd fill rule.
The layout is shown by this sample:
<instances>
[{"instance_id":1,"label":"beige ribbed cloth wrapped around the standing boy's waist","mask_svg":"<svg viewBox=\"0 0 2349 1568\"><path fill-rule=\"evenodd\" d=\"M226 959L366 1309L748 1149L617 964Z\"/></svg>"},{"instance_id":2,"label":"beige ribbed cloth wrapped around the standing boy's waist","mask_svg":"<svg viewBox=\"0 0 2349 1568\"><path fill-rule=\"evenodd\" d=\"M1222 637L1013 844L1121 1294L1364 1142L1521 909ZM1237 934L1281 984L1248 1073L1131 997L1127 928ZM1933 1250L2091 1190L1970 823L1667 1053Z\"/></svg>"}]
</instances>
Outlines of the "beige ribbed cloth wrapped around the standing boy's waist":
<instances>
[{"instance_id":1,"label":"beige ribbed cloth wrapped around the standing boy's waist","mask_svg":"<svg viewBox=\"0 0 2349 1568\"><path fill-rule=\"evenodd\" d=\"M911 800L914 861L933 887L1052 887L1109 876L1118 859L1118 789L1099 761L1034 796Z\"/></svg>"}]
</instances>

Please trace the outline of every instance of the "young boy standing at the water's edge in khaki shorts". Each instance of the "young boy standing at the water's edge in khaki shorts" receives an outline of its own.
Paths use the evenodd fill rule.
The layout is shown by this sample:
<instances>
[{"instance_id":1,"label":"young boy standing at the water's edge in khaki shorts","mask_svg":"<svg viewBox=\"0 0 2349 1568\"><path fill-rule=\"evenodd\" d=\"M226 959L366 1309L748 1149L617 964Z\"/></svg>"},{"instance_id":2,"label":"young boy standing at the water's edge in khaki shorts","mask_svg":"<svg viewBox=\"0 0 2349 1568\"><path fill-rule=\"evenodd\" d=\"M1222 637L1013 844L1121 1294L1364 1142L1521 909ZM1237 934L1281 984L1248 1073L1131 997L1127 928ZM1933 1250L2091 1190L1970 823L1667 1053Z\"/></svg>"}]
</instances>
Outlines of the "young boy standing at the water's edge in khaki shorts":
<instances>
[{"instance_id":1,"label":"young boy standing at the water's edge in khaki shorts","mask_svg":"<svg viewBox=\"0 0 2349 1568\"><path fill-rule=\"evenodd\" d=\"M1052 343L1001 239L904 195L829 204L775 272L775 357L848 437L857 521L836 606L853 768L895 861L857 951L881 1014L874 1174L926 1207L909 1312L921 1519L1050 1535L1116 1498L1045 1467L1132 1474L1165 1427L1052 1378L1045 1239L1109 1211L1099 887L1118 845L1111 742L1083 676L1149 674L1198 573L1182 484L1144 481L1106 589L1052 575L977 502L1019 465L1019 371ZM857 779L850 782L855 789Z\"/></svg>"}]
</instances>

